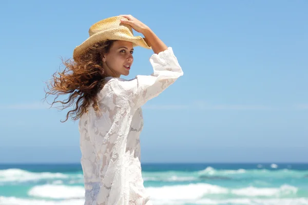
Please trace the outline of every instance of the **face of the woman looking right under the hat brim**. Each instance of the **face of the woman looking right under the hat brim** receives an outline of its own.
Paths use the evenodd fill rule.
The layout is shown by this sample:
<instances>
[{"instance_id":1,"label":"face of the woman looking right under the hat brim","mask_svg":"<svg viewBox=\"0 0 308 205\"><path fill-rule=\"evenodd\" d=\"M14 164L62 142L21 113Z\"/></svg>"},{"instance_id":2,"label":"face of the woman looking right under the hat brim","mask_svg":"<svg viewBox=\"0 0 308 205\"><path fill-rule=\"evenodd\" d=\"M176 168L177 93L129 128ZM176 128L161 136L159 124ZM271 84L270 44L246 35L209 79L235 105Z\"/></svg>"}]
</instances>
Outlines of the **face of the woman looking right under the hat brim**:
<instances>
[{"instance_id":1,"label":"face of the woman looking right under the hat brim","mask_svg":"<svg viewBox=\"0 0 308 205\"><path fill-rule=\"evenodd\" d=\"M132 53L131 42L124 40L113 42L109 52L102 57L106 74L113 77L127 76L133 62Z\"/></svg>"}]
</instances>

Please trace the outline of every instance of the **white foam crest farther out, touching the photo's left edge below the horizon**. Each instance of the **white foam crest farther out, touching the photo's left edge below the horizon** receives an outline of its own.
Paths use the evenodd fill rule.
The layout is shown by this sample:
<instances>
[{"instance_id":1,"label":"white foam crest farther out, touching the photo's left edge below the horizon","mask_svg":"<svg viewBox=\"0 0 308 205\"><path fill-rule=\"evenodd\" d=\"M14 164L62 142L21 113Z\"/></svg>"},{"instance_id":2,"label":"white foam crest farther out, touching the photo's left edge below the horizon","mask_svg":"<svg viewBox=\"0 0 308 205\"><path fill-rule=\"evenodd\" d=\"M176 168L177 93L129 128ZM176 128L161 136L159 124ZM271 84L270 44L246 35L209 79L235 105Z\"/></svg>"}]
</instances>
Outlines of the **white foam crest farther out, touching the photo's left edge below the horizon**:
<instances>
[{"instance_id":1,"label":"white foam crest farther out, touching the photo's left edge below the horizon","mask_svg":"<svg viewBox=\"0 0 308 205\"><path fill-rule=\"evenodd\" d=\"M68 178L69 176L62 173L51 172L28 172L21 169L7 169L0 170L0 182L23 182L39 179L61 179Z\"/></svg>"}]
</instances>

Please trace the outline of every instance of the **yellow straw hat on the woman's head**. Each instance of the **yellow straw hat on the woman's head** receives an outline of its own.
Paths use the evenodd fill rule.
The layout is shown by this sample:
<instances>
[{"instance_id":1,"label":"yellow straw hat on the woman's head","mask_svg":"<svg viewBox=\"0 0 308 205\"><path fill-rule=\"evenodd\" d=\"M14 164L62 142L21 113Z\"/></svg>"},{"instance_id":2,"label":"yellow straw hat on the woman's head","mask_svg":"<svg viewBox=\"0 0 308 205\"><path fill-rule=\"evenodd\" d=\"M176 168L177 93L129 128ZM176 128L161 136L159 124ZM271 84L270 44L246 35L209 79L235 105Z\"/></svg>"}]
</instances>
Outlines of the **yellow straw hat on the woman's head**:
<instances>
[{"instance_id":1,"label":"yellow straw hat on the woman's head","mask_svg":"<svg viewBox=\"0 0 308 205\"><path fill-rule=\"evenodd\" d=\"M121 23L121 19L125 17L113 16L93 24L89 29L88 37L81 45L76 46L73 51L73 58L76 61L83 52L97 42L104 40L126 40L132 42L133 46L141 46L150 49L150 45L146 39L141 36L134 36L131 26Z\"/></svg>"}]
</instances>

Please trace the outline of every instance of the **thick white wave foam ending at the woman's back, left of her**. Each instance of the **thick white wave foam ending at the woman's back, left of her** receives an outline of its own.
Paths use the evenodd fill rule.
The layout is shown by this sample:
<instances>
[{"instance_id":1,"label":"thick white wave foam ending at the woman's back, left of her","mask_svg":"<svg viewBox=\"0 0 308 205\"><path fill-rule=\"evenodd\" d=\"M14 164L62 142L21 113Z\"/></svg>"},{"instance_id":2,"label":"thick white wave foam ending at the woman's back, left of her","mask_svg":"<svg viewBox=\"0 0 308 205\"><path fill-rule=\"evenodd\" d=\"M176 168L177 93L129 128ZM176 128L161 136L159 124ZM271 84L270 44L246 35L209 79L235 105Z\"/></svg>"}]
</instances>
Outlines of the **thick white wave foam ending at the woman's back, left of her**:
<instances>
[{"instance_id":1,"label":"thick white wave foam ending at the woman's back, left of her","mask_svg":"<svg viewBox=\"0 0 308 205\"><path fill-rule=\"evenodd\" d=\"M84 197L84 187L66 185L41 185L29 190L28 195L53 199L72 199Z\"/></svg>"}]
</instances>

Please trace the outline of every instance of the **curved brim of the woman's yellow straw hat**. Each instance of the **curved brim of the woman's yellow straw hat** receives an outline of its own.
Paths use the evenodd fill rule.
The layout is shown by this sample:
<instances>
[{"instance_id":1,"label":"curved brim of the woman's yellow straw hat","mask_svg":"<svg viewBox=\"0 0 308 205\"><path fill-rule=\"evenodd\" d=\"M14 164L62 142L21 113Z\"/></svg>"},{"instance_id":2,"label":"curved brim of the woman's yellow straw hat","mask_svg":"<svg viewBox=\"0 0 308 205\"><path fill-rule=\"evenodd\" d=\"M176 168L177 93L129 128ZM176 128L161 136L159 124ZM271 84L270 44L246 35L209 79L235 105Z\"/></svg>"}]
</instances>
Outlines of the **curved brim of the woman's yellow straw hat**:
<instances>
[{"instance_id":1,"label":"curved brim of the woman's yellow straw hat","mask_svg":"<svg viewBox=\"0 0 308 205\"><path fill-rule=\"evenodd\" d=\"M73 59L75 61L78 60L79 56L87 51L87 49L93 44L103 42L104 40L126 40L131 42L133 47L141 46L143 48L151 49L151 46L146 39L141 36L133 36L126 29L109 29L95 33L88 37L81 45L77 46L73 51Z\"/></svg>"}]
</instances>

